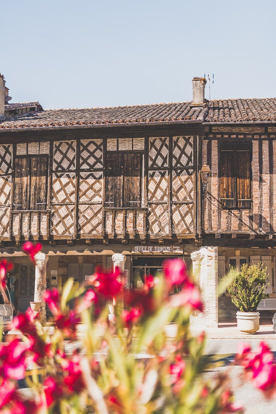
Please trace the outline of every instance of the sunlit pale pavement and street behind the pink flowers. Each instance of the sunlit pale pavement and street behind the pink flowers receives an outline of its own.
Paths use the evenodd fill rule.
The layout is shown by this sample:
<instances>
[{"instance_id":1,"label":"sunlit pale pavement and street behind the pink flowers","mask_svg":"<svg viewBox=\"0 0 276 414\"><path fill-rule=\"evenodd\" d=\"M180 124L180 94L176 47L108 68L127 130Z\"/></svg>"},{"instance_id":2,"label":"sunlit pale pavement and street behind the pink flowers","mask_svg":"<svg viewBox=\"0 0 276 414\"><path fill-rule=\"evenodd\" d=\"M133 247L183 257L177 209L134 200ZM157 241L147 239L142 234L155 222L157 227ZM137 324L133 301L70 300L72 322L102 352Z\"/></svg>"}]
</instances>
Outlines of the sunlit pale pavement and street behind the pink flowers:
<instances>
[{"instance_id":1,"label":"sunlit pale pavement and street behind the pink flowers","mask_svg":"<svg viewBox=\"0 0 276 414\"><path fill-rule=\"evenodd\" d=\"M265 412L266 414L274 414L276 407L276 397L267 400L263 393L256 388L250 381L245 381L242 374L242 367L232 366L233 359L237 346L240 342L250 343L252 349L256 349L259 342L262 340L269 344L272 351L274 351L274 359L276 360L276 334L272 327L273 325L269 320L262 320L260 329L256 335L244 335L241 334L237 328L235 320L226 320L220 322L218 327L212 329L205 329L206 334L206 355L212 355L214 361L214 368L204 373L203 376L206 380L214 381L217 375L220 373L228 373L229 386L234 391L235 401L242 404L245 407L245 414L260 414ZM45 328L49 334L53 333L55 326L48 324ZM166 326L166 332L168 339L173 339L177 326L170 324ZM191 335L198 336L202 332L202 327L197 325L191 325ZM10 334L18 335L19 332L10 332ZM82 337L85 335L85 325L78 325L78 339L76 341L65 341L65 353L72 354L74 349L82 348ZM85 352L82 349L82 352ZM100 359L102 354L96 354L96 358ZM136 355L137 358L149 357L146 353ZM216 363L217 362L217 363ZM219 366L222 365L222 366ZM31 366L29 366L31 368ZM19 382L20 392L24 398L30 398L32 391L26 388L24 380Z\"/></svg>"}]
</instances>

